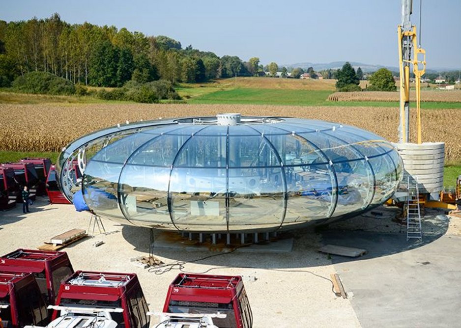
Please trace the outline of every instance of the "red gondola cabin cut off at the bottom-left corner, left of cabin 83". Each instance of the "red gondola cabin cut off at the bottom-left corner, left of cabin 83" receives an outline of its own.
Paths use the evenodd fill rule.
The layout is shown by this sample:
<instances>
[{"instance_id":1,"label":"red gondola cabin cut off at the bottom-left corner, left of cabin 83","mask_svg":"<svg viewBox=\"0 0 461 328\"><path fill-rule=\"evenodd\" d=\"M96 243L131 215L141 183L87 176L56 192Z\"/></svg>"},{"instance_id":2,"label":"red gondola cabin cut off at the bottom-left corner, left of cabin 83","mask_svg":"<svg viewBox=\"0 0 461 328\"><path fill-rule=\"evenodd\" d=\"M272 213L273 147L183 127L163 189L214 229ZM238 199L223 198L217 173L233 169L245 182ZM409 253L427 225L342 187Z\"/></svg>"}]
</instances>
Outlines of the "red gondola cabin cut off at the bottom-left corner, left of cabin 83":
<instances>
[{"instance_id":1,"label":"red gondola cabin cut off at the bottom-left corner, left of cabin 83","mask_svg":"<svg viewBox=\"0 0 461 328\"><path fill-rule=\"evenodd\" d=\"M30 273L0 273L0 325L20 328L46 325L48 312Z\"/></svg>"}]
</instances>

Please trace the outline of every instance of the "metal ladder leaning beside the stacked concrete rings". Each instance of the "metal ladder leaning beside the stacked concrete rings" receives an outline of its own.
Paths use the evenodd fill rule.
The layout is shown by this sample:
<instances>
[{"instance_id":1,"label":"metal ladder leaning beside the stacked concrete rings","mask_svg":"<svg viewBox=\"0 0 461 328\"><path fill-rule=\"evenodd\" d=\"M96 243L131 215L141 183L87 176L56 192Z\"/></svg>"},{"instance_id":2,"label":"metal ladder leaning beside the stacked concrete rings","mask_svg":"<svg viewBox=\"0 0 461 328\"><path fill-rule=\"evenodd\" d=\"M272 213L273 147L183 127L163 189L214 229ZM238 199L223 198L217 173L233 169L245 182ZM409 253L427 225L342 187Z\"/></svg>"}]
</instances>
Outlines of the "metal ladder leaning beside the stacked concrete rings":
<instances>
[{"instance_id":1,"label":"metal ladder leaning beside the stacked concrete rings","mask_svg":"<svg viewBox=\"0 0 461 328\"><path fill-rule=\"evenodd\" d=\"M419 206L419 189L418 179L412 179L410 185L410 177L407 180L407 203L406 203L406 240L417 238L423 240L421 229L421 212Z\"/></svg>"}]
</instances>

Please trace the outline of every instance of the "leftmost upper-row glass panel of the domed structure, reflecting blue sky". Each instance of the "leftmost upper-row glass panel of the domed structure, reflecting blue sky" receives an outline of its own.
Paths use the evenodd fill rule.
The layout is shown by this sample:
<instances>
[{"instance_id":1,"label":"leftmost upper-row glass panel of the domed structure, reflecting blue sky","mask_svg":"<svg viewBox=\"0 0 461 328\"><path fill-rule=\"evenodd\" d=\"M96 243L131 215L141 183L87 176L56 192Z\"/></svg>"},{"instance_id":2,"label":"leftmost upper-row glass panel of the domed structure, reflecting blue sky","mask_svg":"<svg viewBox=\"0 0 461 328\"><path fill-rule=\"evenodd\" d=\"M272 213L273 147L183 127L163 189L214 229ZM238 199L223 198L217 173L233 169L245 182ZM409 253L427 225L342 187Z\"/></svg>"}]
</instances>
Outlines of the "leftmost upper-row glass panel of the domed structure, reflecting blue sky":
<instances>
[{"instance_id":1,"label":"leftmost upper-row glass panel of the domed structure, reflecting blue sky","mask_svg":"<svg viewBox=\"0 0 461 328\"><path fill-rule=\"evenodd\" d=\"M138 147L152 138L154 136L140 133L124 137L101 149L92 159L123 164Z\"/></svg>"}]
</instances>

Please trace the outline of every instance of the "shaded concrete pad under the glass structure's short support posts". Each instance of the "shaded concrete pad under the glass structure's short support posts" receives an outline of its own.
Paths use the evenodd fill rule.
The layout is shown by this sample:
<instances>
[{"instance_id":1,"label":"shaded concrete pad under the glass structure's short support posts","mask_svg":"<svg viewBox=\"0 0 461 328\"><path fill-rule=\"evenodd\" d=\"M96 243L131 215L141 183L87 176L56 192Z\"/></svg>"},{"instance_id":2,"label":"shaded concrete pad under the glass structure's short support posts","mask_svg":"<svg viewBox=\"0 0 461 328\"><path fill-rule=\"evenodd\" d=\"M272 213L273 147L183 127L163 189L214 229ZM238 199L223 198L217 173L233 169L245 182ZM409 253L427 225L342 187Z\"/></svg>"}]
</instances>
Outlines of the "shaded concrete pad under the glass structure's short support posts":
<instances>
[{"instance_id":1,"label":"shaded concrete pad under the glass structure's short support posts","mask_svg":"<svg viewBox=\"0 0 461 328\"><path fill-rule=\"evenodd\" d=\"M196 235L196 234L195 234ZM235 237L235 236L233 236ZM157 233L154 240L154 249L168 249L175 251L213 251L229 252L234 250L241 253L289 253L293 249L293 238L279 237L269 241L260 241L258 244L240 244L232 238L231 245L225 245L225 238L212 244L209 240L199 243L198 239L189 240L176 232ZM247 241L249 238L247 238Z\"/></svg>"}]
</instances>

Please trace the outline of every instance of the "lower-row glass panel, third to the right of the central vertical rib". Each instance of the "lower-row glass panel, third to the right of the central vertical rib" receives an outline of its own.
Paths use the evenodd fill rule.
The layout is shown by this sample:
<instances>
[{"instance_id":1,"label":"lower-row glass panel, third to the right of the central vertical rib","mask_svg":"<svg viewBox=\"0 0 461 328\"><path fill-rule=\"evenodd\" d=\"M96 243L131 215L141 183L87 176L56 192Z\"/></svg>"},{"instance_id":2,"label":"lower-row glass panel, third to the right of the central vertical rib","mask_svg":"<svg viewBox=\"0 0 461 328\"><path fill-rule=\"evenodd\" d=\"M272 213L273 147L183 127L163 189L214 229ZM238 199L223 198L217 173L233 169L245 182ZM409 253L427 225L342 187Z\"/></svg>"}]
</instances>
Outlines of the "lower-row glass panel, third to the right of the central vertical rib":
<instances>
[{"instance_id":1,"label":"lower-row glass panel, third to the right of the central vertical rib","mask_svg":"<svg viewBox=\"0 0 461 328\"><path fill-rule=\"evenodd\" d=\"M363 210L373 194L373 177L366 161L333 165L338 179L338 202L334 217Z\"/></svg>"}]
</instances>

